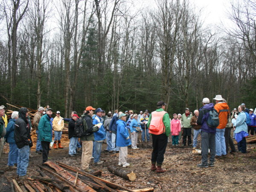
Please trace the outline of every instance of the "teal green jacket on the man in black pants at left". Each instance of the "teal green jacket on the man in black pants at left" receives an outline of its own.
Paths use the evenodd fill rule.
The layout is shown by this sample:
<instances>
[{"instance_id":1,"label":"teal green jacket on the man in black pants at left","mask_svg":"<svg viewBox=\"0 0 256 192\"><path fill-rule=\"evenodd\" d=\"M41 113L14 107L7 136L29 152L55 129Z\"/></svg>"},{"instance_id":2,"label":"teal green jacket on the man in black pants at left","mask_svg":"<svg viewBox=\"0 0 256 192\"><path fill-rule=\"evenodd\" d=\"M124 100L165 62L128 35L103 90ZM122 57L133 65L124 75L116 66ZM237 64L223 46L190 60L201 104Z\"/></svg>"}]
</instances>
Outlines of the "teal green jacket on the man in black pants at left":
<instances>
[{"instance_id":1,"label":"teal green jacket on the man in black pants at left","mask_svg":"<svg viewBox=\"0 0 256 192\"><path fill-rule=\"evenodd\" d=\"M47 114L43 115L38 124L39 140L52 142L52 123Z\"/></svg>"}]
</instances>

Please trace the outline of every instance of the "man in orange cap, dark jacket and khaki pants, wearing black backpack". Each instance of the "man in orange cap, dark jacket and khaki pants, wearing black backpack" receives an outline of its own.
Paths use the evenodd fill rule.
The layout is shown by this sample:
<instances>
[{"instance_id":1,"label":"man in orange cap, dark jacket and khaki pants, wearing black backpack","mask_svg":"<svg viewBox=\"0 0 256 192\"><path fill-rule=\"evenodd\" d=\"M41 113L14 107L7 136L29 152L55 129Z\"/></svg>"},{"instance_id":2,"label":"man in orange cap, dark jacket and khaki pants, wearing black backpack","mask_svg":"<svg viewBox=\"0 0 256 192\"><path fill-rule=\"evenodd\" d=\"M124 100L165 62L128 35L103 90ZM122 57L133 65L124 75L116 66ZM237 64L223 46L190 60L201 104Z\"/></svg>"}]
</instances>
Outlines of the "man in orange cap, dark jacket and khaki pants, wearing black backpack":
<instances>
[{"instance_id":1,"label":"man in orange cap, dark jacket and khaki pants, wearing black backpack","mask_svg":"<svg viewBox=\"0 0 256 192\"><path fill-rule=\"evenodd\" d=\"M93 112L95 108L92 106L88 106L86 109L86 113L84 113L80 118L83 118L83 126L84 132L87 133L86 136L80 137L80 140L83 144L83 152L82 152L82 159L81 159L81 168L85 172L91 172L92 169L89 169L90 160L93 155L93 140L94 140L94 132L99 131L97 126L93 126ZM90 130L90 133L88 133Z\"/></svg>"}]
</instances>

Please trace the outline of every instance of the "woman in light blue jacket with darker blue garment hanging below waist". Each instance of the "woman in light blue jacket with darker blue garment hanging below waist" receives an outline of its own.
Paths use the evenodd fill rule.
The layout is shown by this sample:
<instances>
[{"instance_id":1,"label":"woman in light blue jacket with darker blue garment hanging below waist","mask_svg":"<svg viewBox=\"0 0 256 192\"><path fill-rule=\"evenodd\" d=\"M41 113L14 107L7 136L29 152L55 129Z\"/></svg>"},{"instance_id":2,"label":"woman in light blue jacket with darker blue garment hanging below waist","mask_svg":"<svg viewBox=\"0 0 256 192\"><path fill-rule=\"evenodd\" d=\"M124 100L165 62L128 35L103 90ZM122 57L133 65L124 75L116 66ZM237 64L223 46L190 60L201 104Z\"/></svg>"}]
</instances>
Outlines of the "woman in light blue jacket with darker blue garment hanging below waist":
<instances>
[{"instance_id":1,"label":"woman in light blue jacket with darker blue garment hanging below waist","mask_svg":"<svg viewBox=\"0 0 256 192\"><path fill-rule=\"evenodd\" d=\"M234 127L236 127L236 130L234 131L234 133L236 134L235 139L237 141L238 151L241 151L242 153L246 153L245 137L249 135L247 124L246 124L246 114L244 113L244 110L245 110L244 105L239 105L238 107L239 115L236 119L236 122L234 123Z\"/></svg>"}]
</instances>

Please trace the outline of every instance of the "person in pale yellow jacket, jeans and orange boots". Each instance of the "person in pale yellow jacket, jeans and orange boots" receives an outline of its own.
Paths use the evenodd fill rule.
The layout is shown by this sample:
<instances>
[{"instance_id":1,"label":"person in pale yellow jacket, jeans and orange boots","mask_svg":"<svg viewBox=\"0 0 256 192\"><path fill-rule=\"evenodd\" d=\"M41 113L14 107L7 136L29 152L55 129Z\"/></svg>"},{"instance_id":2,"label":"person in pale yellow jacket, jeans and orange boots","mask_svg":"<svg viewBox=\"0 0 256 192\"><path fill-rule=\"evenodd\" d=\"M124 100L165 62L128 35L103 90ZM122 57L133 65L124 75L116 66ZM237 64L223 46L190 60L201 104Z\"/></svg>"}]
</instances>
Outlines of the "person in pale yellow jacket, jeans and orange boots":
<instances>
[{"instance_id":1,"label":"person in pale yellow jacket, jeans and orange boots","mask_svg":"<svg viewBox=\"0 0 256 192\"><path fill-rule=\"evenodd\" d=\"M61 112L57 111L56 116L54 117L52 121L52 129L54 130L54 149L63 148L61 146L61 135L62 130L64 128L64 120L61 117ZM57 141L58 141L58 148L57 148Z\"/></svg>"}]
</instances>

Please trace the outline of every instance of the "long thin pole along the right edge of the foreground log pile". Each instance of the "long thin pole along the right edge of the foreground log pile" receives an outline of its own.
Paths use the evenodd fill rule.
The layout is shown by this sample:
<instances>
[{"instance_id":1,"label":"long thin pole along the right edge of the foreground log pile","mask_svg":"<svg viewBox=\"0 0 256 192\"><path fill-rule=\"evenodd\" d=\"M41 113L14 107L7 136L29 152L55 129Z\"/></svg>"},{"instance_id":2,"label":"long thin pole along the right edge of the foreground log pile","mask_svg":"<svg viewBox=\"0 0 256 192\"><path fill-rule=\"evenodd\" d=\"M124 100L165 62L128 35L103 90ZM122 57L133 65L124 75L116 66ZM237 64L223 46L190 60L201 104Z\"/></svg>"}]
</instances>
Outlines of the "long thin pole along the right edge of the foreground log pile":
<instances>
[{"instance_id":1,"label":"long thin pole along the right edge of the foreground log pile","mask_svg":"<svg viewBox=\"0 0 256 192\"><path fill-rule=\"evenodd\" d=\"M123 189L123 190L128 191L128 192L133 192L131 189L127 189L127 188L125 188L125 187L123 187L123 186L120 186L120 185L118 185L118 184L111 183L111 182L108 181L108 180L105 180L105 179L102 179L102 178L99 178L99 177L90 175L89 173L82 172L82 171L80 171L79 169L76 169L76 168L74 168L74 167L71 167L71 166L69 166L69 165L67 165L67 164L61 163L61 162L59 162L59 161L56 161L56 163L58 163L60 166L66 168L66 169L69 169L69 170L71 170L71 171L73 171L73 172L79 172L79 174L84 175L84 176L86 176L86 177L89 177L90 179L96 179L96 180L102 181L102 182L106 183L106 184L107 184L108 186L110 186L110 187Z\"/></svg>"}]
</instances>

